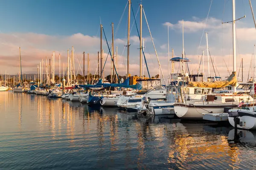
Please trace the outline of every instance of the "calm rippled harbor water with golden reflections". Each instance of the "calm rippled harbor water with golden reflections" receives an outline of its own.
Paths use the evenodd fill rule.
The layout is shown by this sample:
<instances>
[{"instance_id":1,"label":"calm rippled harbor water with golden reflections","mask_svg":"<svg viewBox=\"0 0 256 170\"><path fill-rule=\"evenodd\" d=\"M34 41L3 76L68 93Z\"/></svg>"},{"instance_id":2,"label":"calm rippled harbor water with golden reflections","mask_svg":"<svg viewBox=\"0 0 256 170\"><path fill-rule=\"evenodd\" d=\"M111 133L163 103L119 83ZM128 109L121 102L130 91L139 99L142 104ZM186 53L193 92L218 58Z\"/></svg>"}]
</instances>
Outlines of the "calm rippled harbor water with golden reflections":
<instances>
[{"instance_id":1,"label":"calm rippled harbor water with golden reflections","mask_svg":"<svg viewBox=\"0 0 256 170\"><path fill-rule=\"evenodd\" d=\"M256 169L256 133L0 93L0 169Z\"/></svg>"}]
</instances>

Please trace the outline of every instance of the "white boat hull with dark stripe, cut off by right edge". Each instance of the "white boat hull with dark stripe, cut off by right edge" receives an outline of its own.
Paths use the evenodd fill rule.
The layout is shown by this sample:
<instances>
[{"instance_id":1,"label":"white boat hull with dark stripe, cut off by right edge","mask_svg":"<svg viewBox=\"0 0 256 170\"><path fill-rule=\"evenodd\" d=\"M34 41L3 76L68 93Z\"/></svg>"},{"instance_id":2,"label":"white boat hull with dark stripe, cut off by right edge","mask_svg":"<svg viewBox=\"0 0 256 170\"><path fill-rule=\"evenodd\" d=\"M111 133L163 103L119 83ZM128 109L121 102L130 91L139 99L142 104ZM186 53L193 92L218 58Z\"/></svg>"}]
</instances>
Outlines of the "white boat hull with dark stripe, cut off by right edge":
<instances>
[{"instance_id":1,"label":"white boat hull with dark stripe, cut off by right edge","mask_svg":"<svg viewBox=\"0 0 256 170\"><path fill-rule=\"evenodd\" d=\"M255 110L256 111L256 110ZM228 121L230 125L240 129L256 130L256 112L247 109L230 109Z\"/></svg>"}]
</instances>

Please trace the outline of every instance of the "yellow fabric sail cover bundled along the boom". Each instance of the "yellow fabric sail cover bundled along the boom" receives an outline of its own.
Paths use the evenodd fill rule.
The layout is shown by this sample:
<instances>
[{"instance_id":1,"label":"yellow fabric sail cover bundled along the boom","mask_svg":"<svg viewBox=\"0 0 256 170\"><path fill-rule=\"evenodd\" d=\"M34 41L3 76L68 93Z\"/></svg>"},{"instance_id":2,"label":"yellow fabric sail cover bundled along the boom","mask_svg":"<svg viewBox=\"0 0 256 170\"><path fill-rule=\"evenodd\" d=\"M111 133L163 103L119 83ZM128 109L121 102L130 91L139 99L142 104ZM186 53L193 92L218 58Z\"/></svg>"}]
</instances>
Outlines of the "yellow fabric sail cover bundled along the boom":
<instances>
[{"instance_id":1,"label":"yellow fabric sail cover bundled along the boom","mask_svg":"<svg viewBox=\"0 0 256 170\"><path fill-rule=\"evenodd\" d=\"M189 82L189 86L199 87L199 88L223 88L227 85L236 85L236 71L232 72L230 77L223 81L215 82Z\"/></svg>"}]
</instances>

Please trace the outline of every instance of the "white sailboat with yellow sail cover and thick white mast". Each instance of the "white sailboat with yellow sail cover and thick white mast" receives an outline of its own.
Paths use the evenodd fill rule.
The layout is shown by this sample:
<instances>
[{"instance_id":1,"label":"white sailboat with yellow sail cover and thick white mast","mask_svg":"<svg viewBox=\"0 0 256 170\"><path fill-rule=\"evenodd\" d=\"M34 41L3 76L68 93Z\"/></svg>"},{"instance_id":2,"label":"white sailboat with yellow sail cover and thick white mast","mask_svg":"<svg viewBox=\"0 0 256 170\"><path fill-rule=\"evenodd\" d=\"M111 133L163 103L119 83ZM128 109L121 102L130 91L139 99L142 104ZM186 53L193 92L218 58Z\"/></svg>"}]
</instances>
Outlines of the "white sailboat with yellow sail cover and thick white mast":
<instances>
[{"instance_id":1,"label":"white sailboat with yellow sail cover and thick white mast","mask_svg":"<svg viewBox=\"0 0 256 170\"><path fill-rule=\"evenodd\" d=\"M252 105L254 99L246 94L236 93L236 26L235 26L235 0L233 3L233 72L227 80L216 82L189 82L189 86L222 88L227 85L234 87L233 94L207 94L201 96L200 100L188 100L174 104L175 114L181 119L203 119L202 113L224 113L232 108L247 104ZM245 104L247 103L247 104Z\"/></svg>"}]
</instances>

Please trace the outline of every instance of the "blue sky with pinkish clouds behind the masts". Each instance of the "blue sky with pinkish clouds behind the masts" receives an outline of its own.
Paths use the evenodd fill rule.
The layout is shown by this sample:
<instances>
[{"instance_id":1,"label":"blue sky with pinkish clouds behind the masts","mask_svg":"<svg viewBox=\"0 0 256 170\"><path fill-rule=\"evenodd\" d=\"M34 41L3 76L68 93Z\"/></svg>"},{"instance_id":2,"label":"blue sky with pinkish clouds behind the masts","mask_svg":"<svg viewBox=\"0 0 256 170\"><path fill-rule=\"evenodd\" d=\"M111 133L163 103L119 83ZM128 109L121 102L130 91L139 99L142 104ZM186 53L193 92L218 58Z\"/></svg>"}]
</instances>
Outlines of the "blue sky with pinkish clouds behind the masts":
<instances>
[{"instance_id":1,"label":"blue sky with pinkish clouds behind the masts","mask_svg":"<svg viewBox=\"0 0 256 170\"><path fill-rule=\"evenodd\" d=\"M134 13L136 13L139 1L132 0L131 2ZM73 45L68 42L58 43L57 40L53 41L52 37L57 37L56 39L59 40L61 38L60 41L68 41L69 39L65 39L65 37L72 38L72 35L79 33L84 36L99 37L99 18L101 18L108 41L111 43L111 22L114 23L116 30L116 26L119 23L127 0L76 0L73 2L64 0L0 0L0 3L0 34L2 35L0 37L0 42L2 42L2 49L6 50L6 47L4 46L6 44L8 44L8 47L14 47L15 45L21 46L21 48L25 50L25 54L32 54L35 56L34 58L38 59L38 62L40 62L41 54L47 54L50 57L50 51L59 51L61 54L63 53L62 55L66 55L66 52L64 51L71 48L71 45ZM165 25L164 23L170 23L173 25L169 29L170 48L174 48L175 54L180 56L182 52L182 32L181 29L179 29L179 24L177 23L180 20L184 20L185 22L188 21L187 25L184 24L184 27L186 27L184 33L186 54L188 56L191 55L192 59L194 60L196 58L195 56L199 55L199 53L201 55L201 47L203 48L203 46L206 44L205 36L203 36L201 46L199 47L200 50L198 50L201 35L203 34L204 25L202 25L202 23L204 24L204 20L207 17L211 0L143 0L142 3L152 36L154 38L157 52L160 56L162 56L160 57L160 62L163 62L164 70L167 68L164 66L167 60L164 60L164 58L167 54L166 25L168 25ZM256 10L256 2L252 2L252 5ZM123 42L125 42L127 36L127 9L128 8L126 8L124 17L122 18L122 22L115 36L115 39L123 40ZM248 0L236 0L236 17L242 17L244 14L246 14L246 18L237 22L237 28L253 28L254 24ZM212 20L210 20L210 18ZM136 20L137 24L139 24L139 15L137 16ZM222 20L231 20L231 0L213 0L209 12L209 22L212 22L213 25L209 23L209 26L206 27L205 31L209 32L208 35L211 55L216 55L216 57L225 57L230 55L230 52L228 51L230 51L231 48L231 24L225 24L223 28L223 26L221 26ZM131 23L133 23L133 21L133 15L131 14ZM201 25L194 28L193 26L198 23ZM190 26L189 24L192 25ZM212 26L216 27L213 28ZM216 31L217 28L218 31ZM242 32L243 30L241 30L241 33ZM245 30L245 32L247 31ZM241 37L241 33L238 33L238 36ZM27 34L29 34L31 37L29 40L24 40L28 37ZM226 34L228 38L225 37ZM16 35L16 37L20 37L20 39L24 41L21 41L22 43L20 44L17 42L12 42L10 38L8 39L9 35ZM40 35L41 38L38 38L38 35ZM218 37L217 35L221 35L221 37ZM42 38L43 36L44 38ZM137 36L135 26L131 31L131 36ZM146 26L144 17L143 37L146 39L145 45L147 49L145 52L148 54L148 56L150 56L148 57L148 61L152 65L156 65L156 69L152 70L153 73L156 73L156 57L154 55L154 49L151 45L148 28ZM34 38L32 42L31 38ZM76 43L74 43L74 47L77 49L77 52L81 53L82 51L85 51L86 53L96 54L96 52L99 50L99 44L96 43L93 47L88 47L86 43L82 44L82 42L88 42L90 40L87 40L86 37L83 36L82 39L81 44L76 45ZM48 40L48 42L42 42L42 40ZM77 40L79 41L80 39ZM255 39L250 38L250 40L248 40L243 38L238 40L238 42L240 55L247 55L248 57L248 54L253 53L253 44L255 43ZM120 54L123 50L124 43L120 42L116 43L116 45L119 48ZM138 67L138 65L136 65L138 62L137 57L139 55L137 48L139 48L137 42L131 42L131 64L133 64L131 68L134 68L132 74L138 74L138 70L135 70ZM10 48L10 50L12 50L12 48ZM31 51L33 51L33 53ZM105 51L107 51L106 46ZM16 54L17 51L13 53L8 51L3 52L3 50L0 51L0 56L2 55L5 57L12 57ZM124 52L123 56L125 55L126 53ZM230 62L230 59L231 58L229 57L227 60L225 60L228 63ZM28 62L26 57L23 60L24 62ZM124 61L125 58L122 61L123 64L125 64ZM195 67L196 63L197 60L192 61L192 67ZM24 65L25 72L33 72L36 70L38 63L35 61L35 67L33 67L33 64ZM222 62L219 66L222 67L221 69L223 70L226 69L223 68ZM15 65L12 65L11 67L15 68ZM16 73L15 71L11 70L9 72L12 74ZM227 73L227 71L225 71L225 73Z\"/></svg>"}]
</instances>

